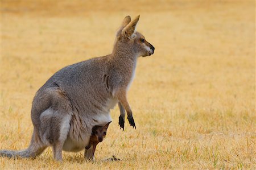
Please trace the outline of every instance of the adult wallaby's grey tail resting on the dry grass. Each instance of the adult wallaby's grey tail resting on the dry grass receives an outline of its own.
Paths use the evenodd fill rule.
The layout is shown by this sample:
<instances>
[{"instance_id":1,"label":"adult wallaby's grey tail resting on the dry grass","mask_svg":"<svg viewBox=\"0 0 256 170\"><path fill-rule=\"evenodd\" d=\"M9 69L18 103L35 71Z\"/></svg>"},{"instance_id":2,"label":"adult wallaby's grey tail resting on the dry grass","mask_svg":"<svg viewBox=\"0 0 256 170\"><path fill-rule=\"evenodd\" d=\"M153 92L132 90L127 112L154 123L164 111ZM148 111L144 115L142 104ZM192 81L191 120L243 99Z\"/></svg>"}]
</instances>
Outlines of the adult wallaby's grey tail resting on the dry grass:
<instances>
[{"instance_id":1,"label":"adult wallaby's grey tail resting on the dry grass","mask_svg":"<svg viewBox=\"0 0 256 170\"><path fill-rule=\"evenodd\" d=\"M45 146L36 140L35 132L33 133L30 146L26 150L21 151L10 151L10 150L0 150L0 156L5 157L36 157L45 150Z\"/></svg>"}]
</instances>

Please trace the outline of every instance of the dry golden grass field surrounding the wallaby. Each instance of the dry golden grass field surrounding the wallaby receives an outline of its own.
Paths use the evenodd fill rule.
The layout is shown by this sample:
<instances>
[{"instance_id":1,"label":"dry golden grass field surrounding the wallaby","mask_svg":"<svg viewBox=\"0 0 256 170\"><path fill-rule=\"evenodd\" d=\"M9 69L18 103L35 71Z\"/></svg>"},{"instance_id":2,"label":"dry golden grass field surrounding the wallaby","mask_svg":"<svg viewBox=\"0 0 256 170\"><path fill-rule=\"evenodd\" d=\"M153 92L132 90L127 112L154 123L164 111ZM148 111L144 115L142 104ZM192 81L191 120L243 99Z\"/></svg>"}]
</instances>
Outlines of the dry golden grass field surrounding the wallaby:
<instances>
[{"instance_id":1,"label":"dry golden grass field surrounding the wallaby","mask_svg":"<svg viewBox=\"0 0 256 170\"><path fill-rule=\"evenodd\" d=\"M119 130L115 107L95 162L48 148L0 169L256 169L255 1L1 0L0 150L28 146L32 98L53 73L111 53L138 14L155 53L128 93L137 130Z\"/></svg>"}]
</instances>

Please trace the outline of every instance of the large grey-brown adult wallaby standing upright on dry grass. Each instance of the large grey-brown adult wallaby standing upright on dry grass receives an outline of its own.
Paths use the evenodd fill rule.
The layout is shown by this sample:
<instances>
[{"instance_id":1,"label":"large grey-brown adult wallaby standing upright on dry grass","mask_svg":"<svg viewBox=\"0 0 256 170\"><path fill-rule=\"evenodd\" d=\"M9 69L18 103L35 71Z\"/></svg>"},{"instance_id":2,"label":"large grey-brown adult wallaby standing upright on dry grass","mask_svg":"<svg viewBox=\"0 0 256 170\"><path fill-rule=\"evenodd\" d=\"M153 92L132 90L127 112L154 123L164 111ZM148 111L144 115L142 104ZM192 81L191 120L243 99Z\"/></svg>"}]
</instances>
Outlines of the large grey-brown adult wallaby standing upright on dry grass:
<instances>
[{"instance_id":1,"label":"large grey-brown adult wallaby standing upright on dry grass","mask_svg":"<svg viewBox=\"0 0 256 170\"><path fill-rule=\"evenodd\" d=\"M123 19L110 55L69 65L53 74L36 92L31 119L34 126L30 146L22 151L0 151L0 156L35 157L52 146L53 156L62 160L62 150L85 149L92 128L111 121L110 109L118 103L119 125L124 128L125 110L135 127L127 90L139 56L150 56L154 47L135 31L139 16ZM92 150L85 152L91 157Z\"/></svg>"}]
</instances>

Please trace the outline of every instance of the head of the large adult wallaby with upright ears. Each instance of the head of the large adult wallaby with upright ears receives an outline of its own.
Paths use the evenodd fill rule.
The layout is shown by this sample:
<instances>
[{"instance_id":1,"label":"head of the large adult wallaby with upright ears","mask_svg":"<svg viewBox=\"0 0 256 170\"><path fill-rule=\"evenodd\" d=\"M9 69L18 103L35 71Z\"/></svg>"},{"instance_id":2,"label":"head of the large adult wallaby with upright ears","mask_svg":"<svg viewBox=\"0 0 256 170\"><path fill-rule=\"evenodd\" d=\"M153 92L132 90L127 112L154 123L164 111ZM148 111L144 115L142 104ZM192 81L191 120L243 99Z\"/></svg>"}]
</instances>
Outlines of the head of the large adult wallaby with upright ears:
<instances>
[{"instance_id":1,"label":"head of the large adult wallaby with upright ears","mask_svg":"<svg viewBox=\"0 0 256 170\"><path fill-rule=\"evenodd\" d=\"M130 16L123 19L121 27L117 31L114 50L133 52L137 56L150 56L154 53L155 47L148 43L144 36L135 30L139 21L139 15L131 21Z\"/></svg>"}]
</instances>

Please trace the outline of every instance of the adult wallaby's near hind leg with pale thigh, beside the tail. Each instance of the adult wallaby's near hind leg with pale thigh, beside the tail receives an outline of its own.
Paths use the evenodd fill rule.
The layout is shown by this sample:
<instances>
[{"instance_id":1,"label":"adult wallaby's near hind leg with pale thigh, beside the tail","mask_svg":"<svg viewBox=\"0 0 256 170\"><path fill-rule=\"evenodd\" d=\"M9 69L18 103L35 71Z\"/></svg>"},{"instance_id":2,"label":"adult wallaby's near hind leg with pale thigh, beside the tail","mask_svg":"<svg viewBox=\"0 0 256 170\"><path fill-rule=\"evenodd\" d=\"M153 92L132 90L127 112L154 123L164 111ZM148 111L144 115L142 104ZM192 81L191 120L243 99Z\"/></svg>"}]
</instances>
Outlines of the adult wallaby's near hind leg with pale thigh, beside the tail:
<instances>
[{"instance_id":1,"label":"adult wallaby's near hind leg with pale thigh, beside the tail","mask_svg":"<svg viewBox=\"0 0 256 170\"><path fill-rule=\"evenodd\" d=\"M72 105L67 94L58 86L45 91L51 99L51 106L40 115L40 136L44 143L52 146L53 157L62 160L62 148L72 118Z\"/></svg>"}]
</instances>

